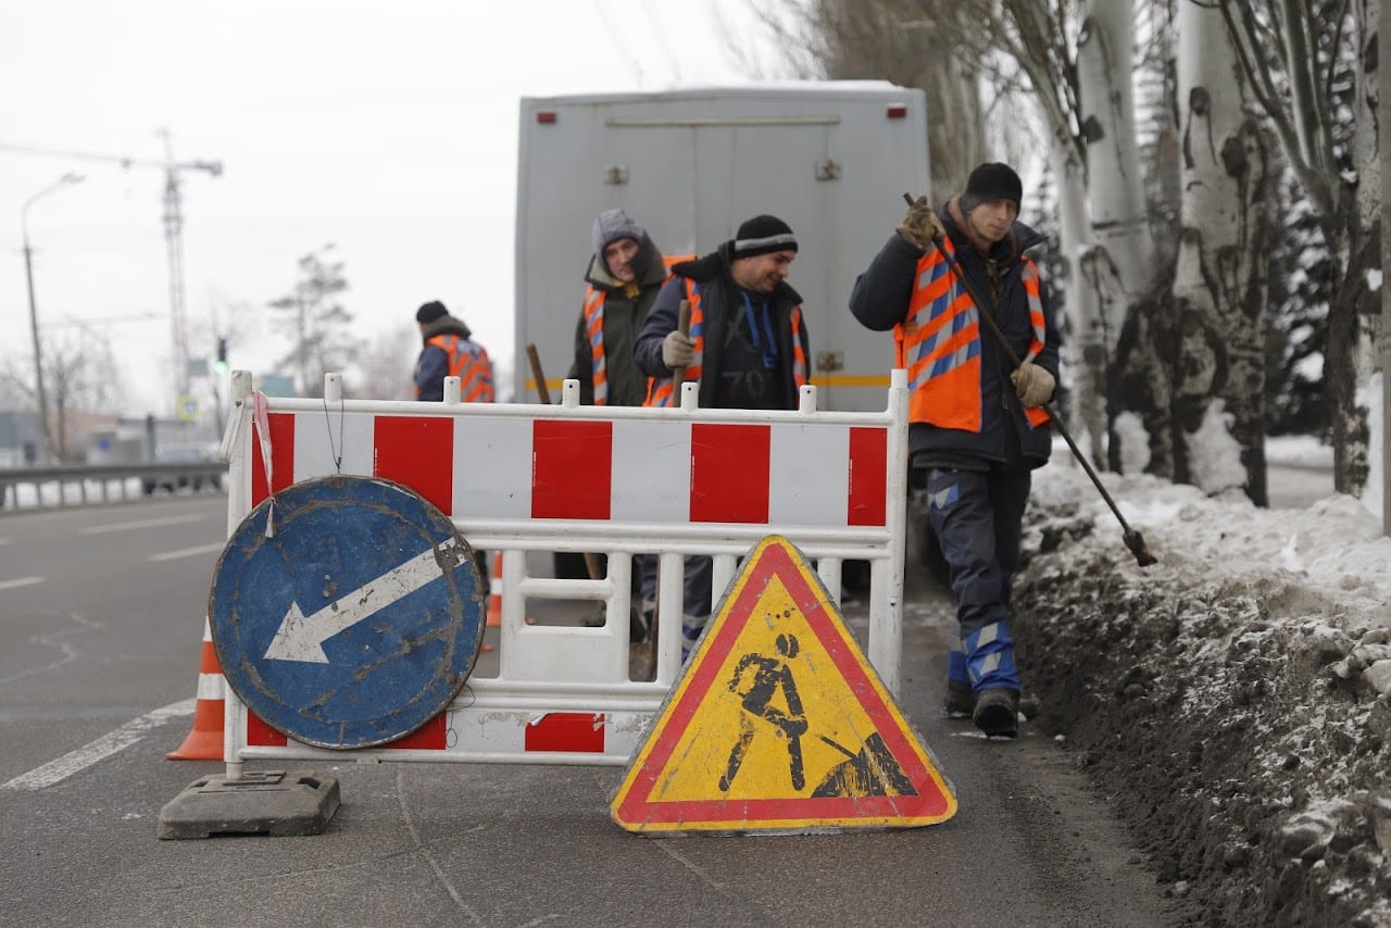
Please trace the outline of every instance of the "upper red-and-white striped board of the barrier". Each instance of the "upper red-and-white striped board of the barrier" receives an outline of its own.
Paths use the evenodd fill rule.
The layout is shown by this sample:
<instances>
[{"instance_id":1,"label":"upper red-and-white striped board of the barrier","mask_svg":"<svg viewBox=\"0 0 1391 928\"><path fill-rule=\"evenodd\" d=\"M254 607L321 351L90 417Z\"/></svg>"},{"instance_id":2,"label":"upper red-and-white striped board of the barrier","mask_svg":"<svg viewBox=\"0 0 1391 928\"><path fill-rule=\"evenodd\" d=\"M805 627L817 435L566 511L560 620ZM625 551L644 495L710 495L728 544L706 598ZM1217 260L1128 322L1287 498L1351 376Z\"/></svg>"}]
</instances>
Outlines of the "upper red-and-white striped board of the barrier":
<instances>
[{"instance_id":1,"label":"upper red-and-white striped board of the barrier","mask_svg":"<svg viewBox=\"0 0 1391 928\"><path fill-rule=\"evenodd\" d=\"M434 406L440 409L440 406ZM385 477L458 519L883 526L883 427L847 423L520 419L273 412L275 488ZM253 440L252 461L260 459ZM335 469L335 449L342 449ZM267 495L252 469L252 505Z\"/></svg>"}]
</instances>

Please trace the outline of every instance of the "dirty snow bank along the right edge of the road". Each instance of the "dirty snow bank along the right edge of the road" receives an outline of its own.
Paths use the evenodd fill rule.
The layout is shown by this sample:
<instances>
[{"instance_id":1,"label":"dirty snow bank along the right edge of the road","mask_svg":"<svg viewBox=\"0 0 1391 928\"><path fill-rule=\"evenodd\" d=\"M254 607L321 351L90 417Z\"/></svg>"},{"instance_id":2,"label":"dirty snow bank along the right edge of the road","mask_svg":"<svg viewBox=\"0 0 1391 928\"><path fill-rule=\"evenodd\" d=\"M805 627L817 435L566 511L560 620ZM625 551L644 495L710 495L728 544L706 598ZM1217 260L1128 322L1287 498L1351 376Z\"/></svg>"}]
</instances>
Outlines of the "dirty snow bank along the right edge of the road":
<instances>
[{"instance_id":1,"label":"dirty snow bank along the right edge of the road","mask_svg":"<svg viewBox=\"0 0 1391 928\"><path fill-rule=\"evenodd\" d=\"M1391 538L1303 511L1035 474L1014 593L1025 690L1160 879L1213 925L1391 925Z\"/></svg>"}]
</instances>

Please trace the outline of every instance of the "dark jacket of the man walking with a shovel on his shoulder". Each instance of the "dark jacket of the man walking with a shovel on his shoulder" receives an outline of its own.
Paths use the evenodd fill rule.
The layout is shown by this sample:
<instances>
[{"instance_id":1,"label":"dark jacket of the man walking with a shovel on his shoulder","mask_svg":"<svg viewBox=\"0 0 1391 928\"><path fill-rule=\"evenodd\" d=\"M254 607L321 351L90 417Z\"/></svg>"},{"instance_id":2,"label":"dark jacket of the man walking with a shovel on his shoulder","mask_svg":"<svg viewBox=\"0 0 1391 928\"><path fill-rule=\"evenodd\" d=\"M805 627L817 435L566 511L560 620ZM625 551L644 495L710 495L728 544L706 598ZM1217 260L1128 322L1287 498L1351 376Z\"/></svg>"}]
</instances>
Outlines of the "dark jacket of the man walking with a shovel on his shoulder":
<instances>
[{"instance_id":1,"label":"dark jacket of the man walking with a shovel on his shoulder","mask_svg":"<svg viewBox=\"0 0 1391 928\"><path fill-rule=\"evenodd\" d=\"M951 238L957 263L965 273L967 281L975 292L992 302L990 306L978 309L990 313L1004 331L1015 356L1024 358L1032 334L1028 298L1021 280L1024 252L1039 245L1042 237L1028 225L1015 223L1010 234L995 243L986 259L956 225L946 207L938 216ZM850 294L850 312L855 319L876 331L889 331L904 321L918 260L922 256L922 249L894 234L865 273L855 280ZM990 285L988 260L997 271L995 288ZM1059 331L1049 305L1047 288L1042 281L1039 291L1046 337L1043 351L1034 363L1057 378ZM1053 445L1052 431L1046 426L1029 426L1010 383L1008 359L1004 358L995 334L983 320L979 330L981 431L940 429L924 422L911 423L908 448L912 452L914 466L986 470L992 466L1039 467L1047 462Z\"/></svg>"}]
</instances>

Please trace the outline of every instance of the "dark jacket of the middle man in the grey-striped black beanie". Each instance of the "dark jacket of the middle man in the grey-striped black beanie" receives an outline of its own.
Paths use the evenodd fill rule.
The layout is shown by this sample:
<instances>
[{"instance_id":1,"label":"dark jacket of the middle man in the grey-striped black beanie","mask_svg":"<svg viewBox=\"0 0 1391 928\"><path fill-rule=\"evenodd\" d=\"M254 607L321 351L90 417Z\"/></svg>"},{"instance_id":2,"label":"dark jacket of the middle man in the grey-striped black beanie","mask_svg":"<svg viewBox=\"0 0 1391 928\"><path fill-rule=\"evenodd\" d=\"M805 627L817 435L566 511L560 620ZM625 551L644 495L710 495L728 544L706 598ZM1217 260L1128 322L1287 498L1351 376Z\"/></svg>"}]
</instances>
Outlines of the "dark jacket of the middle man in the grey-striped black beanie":
<instances>
[{"instance_id":1,"label":"dark jacket of the middle man in the grey-striped black beanie","mask_svg":"<svg viewBox=\"0 0 1391 928\"><path fill-rule=\"evenodd\" d=\"M718 250L694 262L672 267L675 277L666 282L657 296L657 303L637 335L634 359L644 374L669 378L672 370L662 362L662 339L676 330L680 302L686 299L686 281L700 287L701 312L705 317L704 355L701 360L700 405L702 409L727 409L727 377L750 373L730 366L732 352L726 351L730 339L746 338L747 324L743 323L744 291L729 275L729 253L733 242L725 242ZM778 342L778 359L773 369L772 401L768 409L796 409L798 385L793 373L793 309L801 306L801 296L786 281L778 284L772 294L747 294L753 305L768 303L771 324ZM800 326L801 356L807 359L807 378L811 377L811 346L807 334L807 319L803 313ZM747 355L748 352L740 352Z\"/></svg>"}]
</instances>

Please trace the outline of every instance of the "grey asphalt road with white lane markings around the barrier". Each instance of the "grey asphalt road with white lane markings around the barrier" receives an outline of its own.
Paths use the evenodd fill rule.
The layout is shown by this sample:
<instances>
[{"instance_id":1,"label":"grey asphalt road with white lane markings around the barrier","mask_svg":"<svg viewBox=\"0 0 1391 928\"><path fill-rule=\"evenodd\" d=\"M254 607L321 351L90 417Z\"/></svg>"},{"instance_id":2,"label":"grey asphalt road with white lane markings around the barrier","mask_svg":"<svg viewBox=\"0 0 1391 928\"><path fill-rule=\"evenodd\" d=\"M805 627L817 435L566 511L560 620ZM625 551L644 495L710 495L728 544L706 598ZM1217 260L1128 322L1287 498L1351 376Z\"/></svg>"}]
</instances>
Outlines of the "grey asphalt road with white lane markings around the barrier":
<instances>
[{"instance_id":1,"label":"grey asphalt road with white lane markings around the barrier","mask_svg":"<svg viewBox=\"0 0 1391 928\"><path fill-rule=\"evenodd\" d=\"M224 537L221 497L0 516L0 924L1177 921L1057 744L940 717L950 612L925 583L901 708L954 785L943 825L636 838L609 821L618 768L345 758L320 768L344 797L323 835L157 840L164 803L224 769L164 760L189 730ZM862 639L862 609L847 621Z\"/></svg>"}]
</instances>

